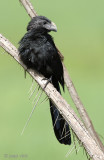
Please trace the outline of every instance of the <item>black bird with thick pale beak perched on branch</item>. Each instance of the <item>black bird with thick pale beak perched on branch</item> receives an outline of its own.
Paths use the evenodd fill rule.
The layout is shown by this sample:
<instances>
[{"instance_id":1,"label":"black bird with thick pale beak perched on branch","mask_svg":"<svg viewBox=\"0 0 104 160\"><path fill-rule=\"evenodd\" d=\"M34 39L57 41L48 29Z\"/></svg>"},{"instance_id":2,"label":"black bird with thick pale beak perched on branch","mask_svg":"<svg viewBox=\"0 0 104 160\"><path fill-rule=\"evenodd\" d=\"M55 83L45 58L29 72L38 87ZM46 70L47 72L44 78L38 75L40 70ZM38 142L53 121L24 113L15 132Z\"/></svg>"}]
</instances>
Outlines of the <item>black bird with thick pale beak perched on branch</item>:
<instances>
[{"instance_id":1,"label":"black bird with thick pale beak perched on branch","mask_svg":"<svg viewBox=\"0 0 104 160\"><path fill-rule=\"evenodd\" d=\"M60 92L59 83L64 90L63 66L50 31L57 31L53 22L44 16L34 17L27 26L27 33L19 42L18 51L28 69L37 71L47 79L51 77L51 83ZM58 141L70 145L69 125L51 101L50 111Z\"/></svg>"}]
</instances>

